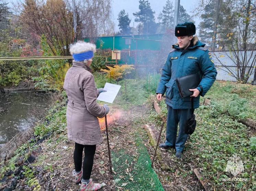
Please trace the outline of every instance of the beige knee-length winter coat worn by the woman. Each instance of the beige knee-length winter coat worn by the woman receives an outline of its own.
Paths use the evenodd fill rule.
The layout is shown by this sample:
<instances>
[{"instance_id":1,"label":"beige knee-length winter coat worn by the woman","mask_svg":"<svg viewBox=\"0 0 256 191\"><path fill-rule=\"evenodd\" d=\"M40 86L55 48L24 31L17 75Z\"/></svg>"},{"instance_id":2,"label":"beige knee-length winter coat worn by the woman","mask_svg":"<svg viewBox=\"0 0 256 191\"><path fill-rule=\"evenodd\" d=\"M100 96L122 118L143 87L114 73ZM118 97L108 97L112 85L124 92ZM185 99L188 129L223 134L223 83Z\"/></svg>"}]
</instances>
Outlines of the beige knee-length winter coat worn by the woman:
<instances>
[{"instance_id":1,"label":"beige knee-length winter coat worn by the woman","mask_svg":"<svg viewBox=\"0 0 256 191\"><path fill-rule=\"evenodd\" d=\"M63 85L68 96L68 138L81 145L97 145L103 141L97 117L103 118L106 112L96 102L98 91L90 71L83 62L73 61Z\"/></svg>"}]
</instances>

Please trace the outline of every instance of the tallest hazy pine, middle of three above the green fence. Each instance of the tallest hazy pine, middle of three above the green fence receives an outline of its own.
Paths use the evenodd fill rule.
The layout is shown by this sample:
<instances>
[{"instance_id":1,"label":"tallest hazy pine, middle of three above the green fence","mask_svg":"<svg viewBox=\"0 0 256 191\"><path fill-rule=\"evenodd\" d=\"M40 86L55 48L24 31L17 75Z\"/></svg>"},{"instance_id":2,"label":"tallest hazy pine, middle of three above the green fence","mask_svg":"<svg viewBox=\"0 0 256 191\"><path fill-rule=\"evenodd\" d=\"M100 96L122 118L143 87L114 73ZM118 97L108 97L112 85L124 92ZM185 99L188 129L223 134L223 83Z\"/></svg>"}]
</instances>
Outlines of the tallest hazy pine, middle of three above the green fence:
<instances>
[{"instance_id":1,"label":"tallest hazy pine, middle of three above the green fence","mask_svg":"<svg viewBox=\"0 0 256 191\"><path fill-rule=\"evenodd\" d=\"M149 1L139 1L139 12L133 13L135 22L141 22L144 34L154 34L157 24L155 23L155 12L152 11Z\"/></svg>"}]
</instances>

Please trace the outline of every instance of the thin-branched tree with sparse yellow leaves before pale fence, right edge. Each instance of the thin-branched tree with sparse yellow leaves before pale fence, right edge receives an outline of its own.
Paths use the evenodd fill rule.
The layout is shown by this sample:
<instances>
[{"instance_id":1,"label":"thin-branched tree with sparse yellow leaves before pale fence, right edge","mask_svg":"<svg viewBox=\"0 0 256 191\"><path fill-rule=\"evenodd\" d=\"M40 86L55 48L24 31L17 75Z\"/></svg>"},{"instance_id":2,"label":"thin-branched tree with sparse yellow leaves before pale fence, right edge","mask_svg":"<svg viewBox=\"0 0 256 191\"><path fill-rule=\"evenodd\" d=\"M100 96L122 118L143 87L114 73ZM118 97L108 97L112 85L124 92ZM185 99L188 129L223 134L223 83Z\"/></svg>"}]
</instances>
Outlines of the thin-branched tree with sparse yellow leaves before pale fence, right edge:
<instances>
[{"instance_id":1,"label":"thin-branched tree with sparse yellow leaves before pale fence, right edge","mask_svg":"<svg viewBox=\"0 0 256 191\"><path fill-rule=\"evenodd\" d=\"M231 16L235 18L235 23L233 24L235 28L232 31L228 27L225 28L227 31L226 37L229 40L228 43L226 43L226 47L229 52L222 52L220 56L214 55L225 68L222 70L229 72L237 81L247 83L249 77L255 71L254 68L256 66L256 8L251 0L236 1L234 4L234 10ZM236 66L235 70L230 69L221 62L219 57L224 56L232 60Z\"/></svg>"}]
</instances>

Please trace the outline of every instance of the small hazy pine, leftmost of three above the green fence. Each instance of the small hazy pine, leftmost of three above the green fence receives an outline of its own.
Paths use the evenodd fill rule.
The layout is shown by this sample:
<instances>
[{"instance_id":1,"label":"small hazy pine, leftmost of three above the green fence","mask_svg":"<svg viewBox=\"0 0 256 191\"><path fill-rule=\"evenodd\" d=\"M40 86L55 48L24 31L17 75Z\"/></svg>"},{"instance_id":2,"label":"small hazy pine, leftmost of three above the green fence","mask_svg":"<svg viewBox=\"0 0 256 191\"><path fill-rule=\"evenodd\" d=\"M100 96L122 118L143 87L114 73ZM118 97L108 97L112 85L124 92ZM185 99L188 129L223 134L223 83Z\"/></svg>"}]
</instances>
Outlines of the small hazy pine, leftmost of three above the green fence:
<instances>
[{"instance_id":1,"label":"small hazy pine, leftmost of three above the green fence","mask_svg":"<svg viewBox=\"0 0 256 191\"><path fill-rule=\"evenodd\" d=\"M128 13L125 13L125 10L121 10L118 14L118 26L120 29L121 35L130 35L131 34L131 19L129 18Z\"/></svg>"}]
</instances>

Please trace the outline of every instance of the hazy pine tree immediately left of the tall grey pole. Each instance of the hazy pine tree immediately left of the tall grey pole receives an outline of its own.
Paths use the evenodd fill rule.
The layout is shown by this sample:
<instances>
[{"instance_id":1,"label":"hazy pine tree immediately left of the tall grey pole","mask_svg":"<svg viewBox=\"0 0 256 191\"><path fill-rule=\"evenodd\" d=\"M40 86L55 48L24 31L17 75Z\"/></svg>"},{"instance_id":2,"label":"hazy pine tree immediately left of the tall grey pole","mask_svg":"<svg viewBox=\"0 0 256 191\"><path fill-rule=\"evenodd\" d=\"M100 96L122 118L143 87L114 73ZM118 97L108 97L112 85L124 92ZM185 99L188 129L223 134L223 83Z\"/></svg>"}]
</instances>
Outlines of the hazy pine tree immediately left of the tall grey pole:
<instances>
[{"instance_id":1,"label":"hazy pine tree immediately left of the tall grey pole","mask_svg":"<svg viewBox=\"0 0 256 191\"><path fill-rule=\"evenodd\" d=\"M163 29L173 28L173 16L173 3L170 0L167 0L165 6L163 7L163 11L158 16Z\"/></svg>"}]
</instances>

